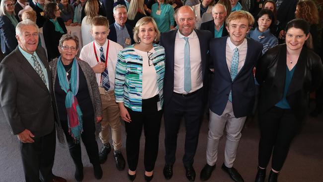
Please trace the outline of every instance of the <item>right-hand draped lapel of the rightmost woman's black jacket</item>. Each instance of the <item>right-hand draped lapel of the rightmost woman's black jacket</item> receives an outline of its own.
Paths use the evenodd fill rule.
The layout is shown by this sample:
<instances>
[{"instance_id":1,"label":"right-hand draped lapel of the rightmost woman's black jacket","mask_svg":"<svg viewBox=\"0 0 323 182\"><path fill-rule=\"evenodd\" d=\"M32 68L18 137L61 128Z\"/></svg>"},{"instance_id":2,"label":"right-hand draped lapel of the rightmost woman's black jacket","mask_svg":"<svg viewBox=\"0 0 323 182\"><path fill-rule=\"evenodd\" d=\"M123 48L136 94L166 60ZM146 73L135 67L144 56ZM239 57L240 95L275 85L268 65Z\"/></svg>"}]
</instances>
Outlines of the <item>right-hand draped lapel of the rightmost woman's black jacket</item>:
<instances>
[{"instance_id":1,"label":"right-hand draped lapel of the rightmost woman's black jacket","mask_svg":"<svg viewBox=\"0 0 323 182\"><path fill-rule=\"evenodd\" d=\"M306 48L302 48L301 54L298 58L297 64L295 65L295 71L287 91L287 95L290 95L303 87L304 83L304 72L307 64L307 51Z\"/></svg>"}]
</instances>

